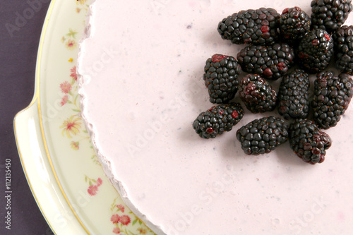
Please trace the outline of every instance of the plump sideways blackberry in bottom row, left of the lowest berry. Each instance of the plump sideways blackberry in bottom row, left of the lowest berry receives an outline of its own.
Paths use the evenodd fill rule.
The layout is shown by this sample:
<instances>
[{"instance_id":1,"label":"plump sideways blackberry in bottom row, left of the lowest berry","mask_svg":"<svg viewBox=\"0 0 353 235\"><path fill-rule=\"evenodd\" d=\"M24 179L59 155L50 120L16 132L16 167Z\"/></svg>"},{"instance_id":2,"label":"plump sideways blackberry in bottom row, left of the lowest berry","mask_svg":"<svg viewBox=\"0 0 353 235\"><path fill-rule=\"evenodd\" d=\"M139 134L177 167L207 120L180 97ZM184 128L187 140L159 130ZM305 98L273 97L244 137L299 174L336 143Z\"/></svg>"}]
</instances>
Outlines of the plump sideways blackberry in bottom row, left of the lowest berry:
<instances>
[{"instance_id":1,"label":"plump sideways blackberry in bottom row, left of the lowest berry","mask_svg":"<svg viewBox=\"0 0 353 235\"><path fill-rule=\"evenodd\" d=\"M288 138L288 124L275 116L255 119L237 131L241 149L247 155L258 155L275 150Z\"/></svg>"}]
</instances>

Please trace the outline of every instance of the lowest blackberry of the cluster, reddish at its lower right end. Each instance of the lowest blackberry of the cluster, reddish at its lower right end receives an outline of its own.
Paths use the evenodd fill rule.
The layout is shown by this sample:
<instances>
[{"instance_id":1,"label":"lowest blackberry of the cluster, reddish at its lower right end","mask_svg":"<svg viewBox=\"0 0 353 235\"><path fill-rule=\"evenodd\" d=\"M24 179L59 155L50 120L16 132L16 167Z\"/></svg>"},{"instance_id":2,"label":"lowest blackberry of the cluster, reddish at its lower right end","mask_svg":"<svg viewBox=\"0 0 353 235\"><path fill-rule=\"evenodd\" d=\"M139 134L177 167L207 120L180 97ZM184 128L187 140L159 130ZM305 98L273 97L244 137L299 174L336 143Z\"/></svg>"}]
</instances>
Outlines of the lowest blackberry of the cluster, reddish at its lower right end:
<instances>
[{"instance_id":1,"label":"lowest blackberry of the cluster, reddish at its lower right end","mask_svg":"<svg viewBox=\"0 0 353 235\"><path fill-rule=\"evenodd\" d=\"M330 136L309 119L297 119L289 126L289 145L304 162L323 162L331 143Z\"/></svg>"}]
</instances>

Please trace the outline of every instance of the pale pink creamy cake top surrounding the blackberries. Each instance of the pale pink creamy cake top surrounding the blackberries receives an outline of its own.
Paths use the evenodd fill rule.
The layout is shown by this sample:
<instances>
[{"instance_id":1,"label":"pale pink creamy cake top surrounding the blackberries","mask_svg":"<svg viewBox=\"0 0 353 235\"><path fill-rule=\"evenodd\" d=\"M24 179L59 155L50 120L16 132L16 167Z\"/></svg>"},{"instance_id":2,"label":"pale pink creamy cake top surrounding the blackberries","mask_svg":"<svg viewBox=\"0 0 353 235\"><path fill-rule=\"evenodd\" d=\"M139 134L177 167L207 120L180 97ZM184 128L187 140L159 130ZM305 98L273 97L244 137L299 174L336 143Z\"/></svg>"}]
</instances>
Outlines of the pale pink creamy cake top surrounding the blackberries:
<instances>
[{"instance_id":1,"label":"pale pink creamy cake top surrounding the blackberries","mask_svg":"<svg viewBox=\"0 0 353 235\"><path fill-rule=\"evenodd\" d=\"M277 111L251 114L242 104L244 118L215 139L200 138L192 127L214 105L203 82L205 60L237 56L245 47L222 40L220 20L262 6L282 13L296 4L310 14L310 2L92 4L78 61L82 115L105 173L158 235L353 231L352 107L325 131L333 145L314 166L289 143L259 156L241 150L237 129Z\"/></svg>"}]
</instances>

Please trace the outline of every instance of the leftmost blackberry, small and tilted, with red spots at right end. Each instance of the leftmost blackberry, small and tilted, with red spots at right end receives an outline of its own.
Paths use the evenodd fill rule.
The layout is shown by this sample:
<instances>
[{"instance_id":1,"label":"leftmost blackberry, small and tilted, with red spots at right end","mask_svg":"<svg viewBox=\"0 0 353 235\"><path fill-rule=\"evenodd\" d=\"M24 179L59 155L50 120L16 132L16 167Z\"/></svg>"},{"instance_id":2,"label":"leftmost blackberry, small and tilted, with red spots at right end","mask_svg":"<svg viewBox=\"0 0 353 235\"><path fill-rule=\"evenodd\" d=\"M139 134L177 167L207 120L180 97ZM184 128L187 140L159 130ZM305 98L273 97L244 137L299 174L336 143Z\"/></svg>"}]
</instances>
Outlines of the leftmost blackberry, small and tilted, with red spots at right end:
<instances>
[{"instance_id":1,"label":"leftmost blackberry, small and tilted, with red spots at right end","mask_svg":"<svg viewBox=\"0 0 353 235\"><path fill-rule=\"evenodd\" d=\"M239 103L219 104L202 112L193 121L193 129L201 138L215 138L225 131L231 131L244 115Z\"/></svg>"}]
</instances>

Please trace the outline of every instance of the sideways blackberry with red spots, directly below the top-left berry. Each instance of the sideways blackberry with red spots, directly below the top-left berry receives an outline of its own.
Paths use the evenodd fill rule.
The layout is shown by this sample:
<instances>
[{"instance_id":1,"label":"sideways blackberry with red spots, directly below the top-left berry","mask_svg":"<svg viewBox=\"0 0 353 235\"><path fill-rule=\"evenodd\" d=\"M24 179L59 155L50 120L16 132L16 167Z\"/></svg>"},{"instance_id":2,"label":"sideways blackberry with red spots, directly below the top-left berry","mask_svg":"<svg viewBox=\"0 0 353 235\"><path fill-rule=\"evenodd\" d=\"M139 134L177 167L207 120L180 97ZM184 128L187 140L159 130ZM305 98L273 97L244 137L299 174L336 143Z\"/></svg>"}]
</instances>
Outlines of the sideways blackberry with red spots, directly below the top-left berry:
<instances>
[{"instance_id":1,"label":"sideways blackberry with red spots, directly below the top-left berry","mask_svg":"<svg viewBox=\"0 0 353 235\"><path fill-rule=\"evenodd\" d=\"M251 46L241 49L237 59L243 71L277 80L284 76L294 60L294 50L285 43Z\"/></svg>"}]
</instances>

